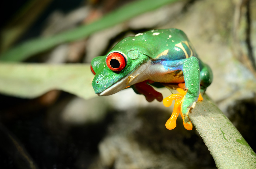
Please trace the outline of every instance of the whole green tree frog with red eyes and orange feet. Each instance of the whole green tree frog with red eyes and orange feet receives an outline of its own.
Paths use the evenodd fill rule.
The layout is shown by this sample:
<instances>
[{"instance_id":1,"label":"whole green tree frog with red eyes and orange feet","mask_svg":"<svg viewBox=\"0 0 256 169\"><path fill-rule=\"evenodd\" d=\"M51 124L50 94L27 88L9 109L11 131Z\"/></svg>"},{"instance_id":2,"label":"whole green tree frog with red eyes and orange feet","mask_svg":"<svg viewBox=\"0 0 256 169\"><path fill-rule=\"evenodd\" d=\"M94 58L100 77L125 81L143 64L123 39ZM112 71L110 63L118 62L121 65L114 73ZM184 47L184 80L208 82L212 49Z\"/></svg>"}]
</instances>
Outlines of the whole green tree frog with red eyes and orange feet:
<instances>
[{"instance_id":1,"label":"whole green tree frog with red eyes and orange feet","mask_svg":"<svg viewBox=\"0 0 256 169\"><path fill-rule=\"evenodd\" d=\"M184 127L192 129L189 111L213 79L211 68L198 57L187 35L176 28L149 30L122 39L106 55L92 59L91 71L95 75L92 87L99 96L131 87L147 101L162 101L162 94L152 85L179 84L179 93L163 100L165 106L175 100L167 129L176 127L177 112Z\"/></svg>"}]
</instances>

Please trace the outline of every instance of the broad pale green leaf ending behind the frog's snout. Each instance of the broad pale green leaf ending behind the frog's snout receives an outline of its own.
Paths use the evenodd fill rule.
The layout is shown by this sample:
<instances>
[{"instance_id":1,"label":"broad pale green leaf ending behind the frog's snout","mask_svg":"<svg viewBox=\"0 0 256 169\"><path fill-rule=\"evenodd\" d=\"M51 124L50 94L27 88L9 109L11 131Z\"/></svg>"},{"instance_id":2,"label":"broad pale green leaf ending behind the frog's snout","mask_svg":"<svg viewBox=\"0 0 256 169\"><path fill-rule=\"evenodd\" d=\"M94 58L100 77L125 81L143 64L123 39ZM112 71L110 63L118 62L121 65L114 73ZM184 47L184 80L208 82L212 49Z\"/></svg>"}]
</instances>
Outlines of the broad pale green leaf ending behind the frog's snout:
<instances>
[{"instance_id":1,"label":"broad pale green leaf ending behind the frog's snout","mask_svg":"<svg viewBox=\"0 0 256 169\"><path fill-rule=\"evenodd\" d=\"M0 63L0 92L22 98L35 98L58 89L81 98L96 97L90 64L7 64Z\"/></svg>"}]
</instances>

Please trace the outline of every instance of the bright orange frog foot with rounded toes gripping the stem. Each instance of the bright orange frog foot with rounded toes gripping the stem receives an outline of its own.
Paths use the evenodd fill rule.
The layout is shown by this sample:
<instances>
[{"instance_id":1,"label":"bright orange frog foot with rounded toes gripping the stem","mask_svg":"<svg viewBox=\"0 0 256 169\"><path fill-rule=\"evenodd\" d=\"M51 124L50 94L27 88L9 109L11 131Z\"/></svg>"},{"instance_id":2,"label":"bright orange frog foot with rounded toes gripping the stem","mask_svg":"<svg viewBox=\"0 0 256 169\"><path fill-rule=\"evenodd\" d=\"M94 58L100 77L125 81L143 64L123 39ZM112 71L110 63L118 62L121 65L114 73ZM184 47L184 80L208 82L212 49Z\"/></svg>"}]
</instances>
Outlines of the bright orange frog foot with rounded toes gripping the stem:
<instances>
[{"instance_id":1,"label":"bright orange frog foot with rounded toes gripping the stem","mask_svg":"<svg viewBox=\"0 0 256 169\"><path fill-rule=\"evenodd\" d=\"M179 93L177 94L171 94L169 97L165 98L163 100L163 104L166 107L169 107L170 105L172 105L172 101L175 100L174 103L174 108L173 108L173 113L171 115L171 117L167 120L167 122L165 123L165 127L169 130L172 130L176 127L176 120L178 115L180 114L182 119L183 119L183 125L187 130L192 130L193 125L188 117L188 112L189 110L187 110L187 114L183 114L182 113L182 103L184 102L184 98L185 95L187 93L187 88L185 87L185 83L179 83L178 86L180 88L177 88L177 91ZM202 101L203 98L201 96L201 94L198 97L198 101ZM193 103L192 107L194 108L196 105L196 102ZM190 109L190 108L189 108Z\"/></svg>"}]
</instances>

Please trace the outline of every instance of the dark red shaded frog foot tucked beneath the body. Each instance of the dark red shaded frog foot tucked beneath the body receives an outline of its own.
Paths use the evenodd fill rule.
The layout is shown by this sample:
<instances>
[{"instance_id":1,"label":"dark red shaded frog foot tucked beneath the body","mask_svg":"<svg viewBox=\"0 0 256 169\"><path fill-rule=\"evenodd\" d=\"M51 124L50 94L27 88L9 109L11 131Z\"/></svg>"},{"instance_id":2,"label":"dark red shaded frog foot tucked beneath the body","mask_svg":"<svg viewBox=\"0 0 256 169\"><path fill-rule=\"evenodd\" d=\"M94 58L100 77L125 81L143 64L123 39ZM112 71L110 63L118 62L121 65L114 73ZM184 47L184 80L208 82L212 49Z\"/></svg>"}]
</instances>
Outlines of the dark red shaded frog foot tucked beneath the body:
<instances>
[{"instance_id":1,"label":"dark red shaded frog foot tucked beneath the body","mask_svg":"<svg viewBox=\"0 0 256 169\"><path fill-rule=\"evenodd\" d=\"M133 85L133 90L138 94L143 94L148 102L152 102L154 99L161 102L163 100L162 93L156 91L152 86L147 83L153 83L154 81L145 80Z\"/></svg>"}]
</instances>

